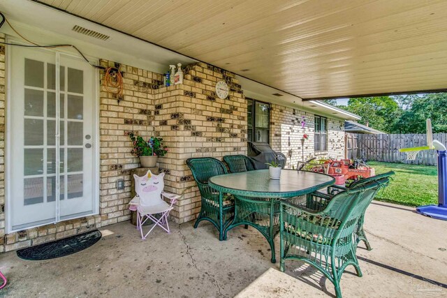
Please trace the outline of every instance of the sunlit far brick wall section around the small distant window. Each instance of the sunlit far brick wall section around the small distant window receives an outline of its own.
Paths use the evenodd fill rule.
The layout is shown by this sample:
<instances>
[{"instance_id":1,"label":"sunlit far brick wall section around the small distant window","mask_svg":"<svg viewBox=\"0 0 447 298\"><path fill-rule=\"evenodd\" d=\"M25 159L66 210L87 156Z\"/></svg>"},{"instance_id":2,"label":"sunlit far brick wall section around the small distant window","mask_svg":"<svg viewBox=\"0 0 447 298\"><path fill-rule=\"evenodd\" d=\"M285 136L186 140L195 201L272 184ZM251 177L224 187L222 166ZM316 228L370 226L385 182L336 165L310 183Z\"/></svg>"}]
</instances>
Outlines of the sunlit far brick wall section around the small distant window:
<instances>
[{"instance_id":1,"label":"sunlit far brick wall section around the small distant window","mask_svg":"<svg viewBox=\"0 0 447 298\"><path fill-rule=\"evenodd\" d=\"M314 116L311 112L270 105L270 144L272 149L287 156L286 167L296 167L298 161L307 161L314 156L344 157L344 120L328 118L328 151L315 152ZM301 124L303 119L306 123L304 128ZM305 133L309 138L302 146L301 139Z\"/></svg>"}]
</instances>

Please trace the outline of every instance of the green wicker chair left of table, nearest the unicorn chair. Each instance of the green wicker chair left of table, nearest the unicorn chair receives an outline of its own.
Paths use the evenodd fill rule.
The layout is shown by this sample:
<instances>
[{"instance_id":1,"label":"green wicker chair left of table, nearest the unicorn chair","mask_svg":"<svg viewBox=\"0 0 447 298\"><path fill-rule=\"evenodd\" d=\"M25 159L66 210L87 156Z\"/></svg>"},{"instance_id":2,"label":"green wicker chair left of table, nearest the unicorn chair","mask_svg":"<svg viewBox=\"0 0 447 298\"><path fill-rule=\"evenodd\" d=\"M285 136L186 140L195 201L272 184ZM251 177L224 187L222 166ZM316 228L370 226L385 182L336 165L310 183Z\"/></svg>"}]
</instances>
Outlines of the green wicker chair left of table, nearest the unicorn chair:
<instances>
[{"instance_id":1,"label":"green wicker chair left of table, nearest the unicorn chair","mask_svg":"<svg viewBox=\"0 0 447 298\"><path fill-rule=\"evenodd\" d=\"M218 191L208 185L208 179L226 174L226 167L221 161L212 157L188 158L186 165L191 169L202 196L202 206L194 228L198 227L200 221L210 221L219 230L219 240L222 241L226 226L233 220L234 198L232 195L219 195Z\"/></svg>"}]
</instances>

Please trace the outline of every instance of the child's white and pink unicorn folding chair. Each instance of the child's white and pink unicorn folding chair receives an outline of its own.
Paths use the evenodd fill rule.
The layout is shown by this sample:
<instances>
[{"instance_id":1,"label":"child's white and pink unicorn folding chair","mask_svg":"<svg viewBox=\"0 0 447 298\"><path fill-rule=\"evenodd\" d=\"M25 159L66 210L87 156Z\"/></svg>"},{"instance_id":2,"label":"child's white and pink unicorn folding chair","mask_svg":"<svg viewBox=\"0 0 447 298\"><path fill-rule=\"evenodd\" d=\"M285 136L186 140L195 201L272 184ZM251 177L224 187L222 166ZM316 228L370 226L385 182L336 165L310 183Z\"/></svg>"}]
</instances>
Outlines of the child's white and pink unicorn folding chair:
<instances>
[{"instance_id":1,"label":"child's white and pink unicorn folding chair","mask_svg":"<svg viewBox=\"0 0 447 298\"><path fill-rule=\"evenodd\" d=\"M166 232L170 233L168 225L168 215L173 209L173 204L178 200L181 195L175 195L173 193L165 193L164 178L165 173L152 174L150 170L147 171L145 176L139 177L133 175L135 179L135 192L137 195L129 202L132 211L137 211L137 229L140 230L141 239L146 239L147 235L154 230L156 225L163 228ZM170 200L170 204L163 200L163 197ZM154 214L160 214L159 218L156 218ZM157 216L158 217L158 216ZM152 228L143 236L142 225L150 219L154 222Z\"/></svg>"}]
</instances>

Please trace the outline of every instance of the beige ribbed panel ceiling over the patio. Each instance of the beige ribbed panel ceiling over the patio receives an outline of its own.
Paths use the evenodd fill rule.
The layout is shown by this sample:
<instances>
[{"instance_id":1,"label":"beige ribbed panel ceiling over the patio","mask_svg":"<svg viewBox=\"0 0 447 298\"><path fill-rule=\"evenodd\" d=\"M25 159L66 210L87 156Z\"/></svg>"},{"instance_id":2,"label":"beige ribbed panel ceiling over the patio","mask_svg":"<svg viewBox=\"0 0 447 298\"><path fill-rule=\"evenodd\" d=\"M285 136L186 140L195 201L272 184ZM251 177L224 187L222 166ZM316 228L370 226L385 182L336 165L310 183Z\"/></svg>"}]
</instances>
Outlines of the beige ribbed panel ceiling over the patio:
<instances>
[{"instance_id":1,"label":"beige ribbed panel ceiling over the patio","mask_svg":"<svg viewBox=\"0 0 447 298\"><path fill-rule=\"evenodd\" d=\"M302 98L446 89L445 0L43 0Z\"/></svg>"}]
</instances>

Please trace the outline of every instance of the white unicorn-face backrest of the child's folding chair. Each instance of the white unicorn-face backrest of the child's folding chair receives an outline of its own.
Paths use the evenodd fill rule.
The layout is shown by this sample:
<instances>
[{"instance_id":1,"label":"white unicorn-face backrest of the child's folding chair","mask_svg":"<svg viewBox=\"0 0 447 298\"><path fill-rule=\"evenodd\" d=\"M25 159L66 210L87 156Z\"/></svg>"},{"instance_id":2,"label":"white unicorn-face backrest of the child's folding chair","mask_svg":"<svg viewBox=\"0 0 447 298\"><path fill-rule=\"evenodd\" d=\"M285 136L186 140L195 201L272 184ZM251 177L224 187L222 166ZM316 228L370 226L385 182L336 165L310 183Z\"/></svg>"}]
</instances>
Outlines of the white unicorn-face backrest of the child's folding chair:
<instances>
[{"instance_id":1,"label":"white unicorn-face backrest of the child's folding chair","mask_svg":"<svg viewBox=\"0 0 447 298\"><path fill-rule=\"evenodd\" d=\"M149 207L156 204L160 204L163 199L161 198L161 193L163 192L165 173L153 174L151 170L140 177L133 174L135 179L135 193L140 197L140 206Z\"/></svg>"}]
</instances>

